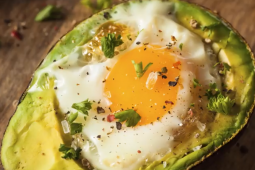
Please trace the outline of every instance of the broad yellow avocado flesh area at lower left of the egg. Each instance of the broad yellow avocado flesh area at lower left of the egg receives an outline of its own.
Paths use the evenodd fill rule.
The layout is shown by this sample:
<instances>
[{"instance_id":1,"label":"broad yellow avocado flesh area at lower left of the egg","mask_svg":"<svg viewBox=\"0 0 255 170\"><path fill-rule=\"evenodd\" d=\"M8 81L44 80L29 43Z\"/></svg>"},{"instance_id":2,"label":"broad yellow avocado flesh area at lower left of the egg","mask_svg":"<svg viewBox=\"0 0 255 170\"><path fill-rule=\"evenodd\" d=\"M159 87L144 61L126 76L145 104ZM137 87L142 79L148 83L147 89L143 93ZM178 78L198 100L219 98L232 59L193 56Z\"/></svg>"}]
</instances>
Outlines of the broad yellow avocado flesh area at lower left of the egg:
<instances>
[{"instance_id":1,"label":"broad yellow avocado flesh area at lower left of the egg","mask_svg":"<svg viewBox=\"0 0 255 170\"><path fill-rule=\"evenodd\" d=\"M62 133L55 108L52 87L25 95L3 139L1 158L6 170L82 169L75 161L61 158L60 143L71 141Z\"/></svg>"}]
</instances>

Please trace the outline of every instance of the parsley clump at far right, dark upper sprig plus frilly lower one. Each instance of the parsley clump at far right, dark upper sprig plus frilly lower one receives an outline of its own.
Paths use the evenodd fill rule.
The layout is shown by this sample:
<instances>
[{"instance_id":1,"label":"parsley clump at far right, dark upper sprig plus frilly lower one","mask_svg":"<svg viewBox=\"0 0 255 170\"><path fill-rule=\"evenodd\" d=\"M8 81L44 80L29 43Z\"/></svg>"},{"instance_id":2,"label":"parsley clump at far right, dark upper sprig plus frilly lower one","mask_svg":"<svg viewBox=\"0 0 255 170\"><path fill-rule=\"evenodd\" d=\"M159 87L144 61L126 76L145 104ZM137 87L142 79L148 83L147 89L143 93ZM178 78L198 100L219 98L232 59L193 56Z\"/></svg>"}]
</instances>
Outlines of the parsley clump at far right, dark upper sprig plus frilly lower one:
<instances>
[{"instance_id":1,"label":"parsley clump at far right, dark upper sprig plus frilly lower one","mask_svg":"<svg viewBox=\"0 0 255 170\"><path fill-rule=\"evenodd\" d=\"M210 89L206 91L205 95L209 100L207 108L213 112L229 114L235 103L234 100L220 92L216 83L210 84Z\"/></svg>"}]
</instances>

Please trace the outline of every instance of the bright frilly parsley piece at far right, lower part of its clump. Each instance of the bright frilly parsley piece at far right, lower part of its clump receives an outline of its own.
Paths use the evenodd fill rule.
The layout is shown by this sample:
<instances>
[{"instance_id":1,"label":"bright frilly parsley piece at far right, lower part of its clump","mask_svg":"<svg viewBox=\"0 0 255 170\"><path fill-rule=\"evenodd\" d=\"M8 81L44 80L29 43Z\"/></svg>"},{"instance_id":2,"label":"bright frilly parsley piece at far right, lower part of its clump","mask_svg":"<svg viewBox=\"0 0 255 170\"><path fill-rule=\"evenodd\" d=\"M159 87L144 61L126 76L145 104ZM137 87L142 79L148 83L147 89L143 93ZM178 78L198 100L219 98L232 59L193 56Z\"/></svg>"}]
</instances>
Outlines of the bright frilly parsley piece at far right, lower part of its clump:
<instances>
[{"instance_id":1,"label":"bright frilly parsley piece at far right, lower part of its clump","mask_svg":"<svg viewBox=\"0 0 255 170\"><path fill-rule=\"evenodd\" d=\"M220 93L218 96L209 99L207 108L213 112L229 114L234 103L234 100L231 100L228 96L225 97Z\"/></svg>"}]
</instances>

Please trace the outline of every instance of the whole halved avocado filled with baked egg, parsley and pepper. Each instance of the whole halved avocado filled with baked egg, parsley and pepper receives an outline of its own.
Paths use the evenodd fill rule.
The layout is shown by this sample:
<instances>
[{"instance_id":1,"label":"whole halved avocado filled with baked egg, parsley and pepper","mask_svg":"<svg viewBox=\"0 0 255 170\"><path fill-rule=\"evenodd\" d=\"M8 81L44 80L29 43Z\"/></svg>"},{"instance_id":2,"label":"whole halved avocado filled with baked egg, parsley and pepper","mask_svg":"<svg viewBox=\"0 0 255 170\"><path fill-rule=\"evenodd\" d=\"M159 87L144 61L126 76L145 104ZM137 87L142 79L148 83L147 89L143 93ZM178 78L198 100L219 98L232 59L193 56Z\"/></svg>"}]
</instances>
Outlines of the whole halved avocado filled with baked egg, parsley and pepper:
<instances>
[{"instance_id":1,"label":"whole halved avocado filled with baked egg, parsley and pepper","mask_svg":"<svg viewBox=\"0 0 255 170\"><path fill-rule=\"evenodd\" d=\"M150 6L149 4L153 5ZM157 5L158 8L156 8ZM157 23L155 24L156 27L158 26L156 29L151 27L151 30L148 31L149 28L133 27L136 16L137 18L141 17L138 15L139 11L146 8L156 13L155 18L158 15L163 15L162 18L156 18L155 20L151 20L149 17L148 20L144 19L144 23L149 21L147 24ZM132 20L131 16L130 20L127 20L127 17L121 18L121 14L125 11L136 13L134 15L135 19ZM146 16L144 17L146 18ZM127 21L124 22L125 19ZM168 20L171 20L171 23ZM161 26L162 23L177 23L171 29L173 29L173 32L179 30L180 34L176 33L174 35L173 33L169 34L169 37L160 37L162 34L167 35L165 33L166 29ZM171 29L169 29L169 32L171 32ZM155 35L152 35L153 33ZM184 33L185 36L194 37L194 39L186 42L185 36L181 36ZM150 35L152 35L152 38L146 39ZM160 38L157 40L153 36ZM154 40L159 43L153 44ZM189 42L192 43L189 44ZM153 48L161 49L160 43L163 43L164 50L170 51L173 56L177 56L178 51L178 61L169 61L167 56L165 57L162 54L162 58L165 57L166 62L170 64L165 65L165 67L160 65L158 67L161 69L157 70L157 63L152 59L148 61L141 59L143 61L141 63L136 58L128 58L137 53L137 51L134 51L136 48L144 52L144 54L139 53L141 57L143 55L148 56L150 53L158 53L153 51ZM202 45L202 50L196 49L201 53L186 51L192 49L195 43ZM152 47L150 44L152 44ZM199 68L192 71L192 73L194 72L193 77L184 79L185 73L187 73L185 69L189 68L188 65L185 65L183 59L186 57L186 52L193 54L193 56L203 56L204 54L210 60L205 58L203 60L206 62L202 62L199 59L193 60L191 57L190 61L197 62ZM120 58L119 56L124 57ZM150 123L152 118L144 119L145 116L139 112L140 108L125 108L125 104L128 102L122 103L124 110L121 109L119 112L118 109L120 108L118 108L116 101L120 99L114 99L119 91L114 91L114 89L117 87L115 87L116 84L120 84L126 79L121 79L124 75L121 74L120 69L117 69L118 66L123 70L130 70L128 74L136 75L135 82L128 81L128 83L125 83L128 86L135 84L136 81L144 81L147 89L155 89L157 86L153 84L153 81L147 81L147 77L151 76L154 79L149 80L156 80L157 83L166 81L167 89L170 88L174 91L174 94L171 93L172 96L178 94L182 97L180 89L188 87L191 89L189 94L197 97L187 98L186 100L191 102L179 104L185 108L186 112L177 115L176 117L179 116L178 120L172 120L173 125L170 127L172 130L167 132L167 134L170 134L169 143L171 142L168 146L169 150L158 151L163 155L155 156L155 154L146 157L147 151L140 149L139 146L132 155L133 157L138 155L139 159L133 160L133 162L138 162L137 165L134 167L121 165L123 168L117 167L117 169L189 169L230 141L246 125L254 106L253 57L246 42L226 21L215 16L207 9L194 4L182 1L130 1L99 12L62 37L34 73L33 80L22 95L17 110L7 127L1 152L3 166L7 170L98 168L96 162L100 164L99 162L102 160L109 161L103 159L104 156L96 156L97 153L104 153L97 145L98 141L103 141L100 143L100 145L103 145L104 142L107 142L107 138L113 138L113 135L117 136L117 133L124 134L124 131L127 131L132 134L129 129L137 130L135 133L141 132L140 135L142 136L144 132L151 133L151 131L138 131L139 128L146 129L147 127L157 126L162 128L160 123L167 123L165 118L172 120L171 116L176 115L174 113L175 109L178 110L177 99L176 101L174 101L175 99L164 100L164 104L160 107L170 117L165 115L156 116L155 122L152 123ZM119 62L126 63L128 66L118 65ZM101 65L107 63L103 66L108 72L100 71L96 63ZM208 72L212 75L210 78L212 82L204 82L203 76L196 75L205 74L197 72L204 70L207 65L210 67ZM87 66L90 69L87 69ZM92 70L93 66L98 72ZM77 70L77 68L82 68L83 72ZM66 70L72 72L66 72ZM63 76L62 71L65 71L65 75L69 75L68 79ZM82 82L83 80L76 81L80 76L73 74L76 74L76 72L84 76L87 86L86 83ZM115 75L115 72L118 72L120 76ZM110 74L108 75L108 73ZM93 84L93 79L88 78L94 74L108 75L108 77L104 79L105 77L102 76L102 79L95 81ZM118 81L119 79L121 80ZM66 83L68 88L87 88L89 90L71 91L71 97L60 98L61 95L65 95L63 92L65 86L61 85L61 82L58 82L59 80L63 80L62 82L66 82L64 80L73 81L72 85ZM100 86L98 86L99 83ZM99 93L100 90L91 90L91 86L102 86L104 88L102 93L104 93L103 96L109 98L111 102L110 109L104 106L104 100L93 98L94 93L96 91ZM84 91L86 92L85 95L83 94ZM111 91L111 97L109 97L109 93L106 93L108 91ZM137 94L132 96L132 99L135 101L136 98L139 98L137 96ZM200 100L204 101L203 104L199 103ZM157 107L157 104L154 104L153 108ZM95 115L92 112L95 112ZM96 124L96 127L91 126L90 129L88 126L99 121L107 124L107 127ZM114 125L113 128L112 124ZM97 127L102 127L100 133L98 133L99 131L94 134L88 132L92 132ZM104 129L104 132L102 132L102 129ZM92 136L91 139L89 135ZM146 137L144 136L145 139ZM155 136L155 138L157 137ZM132 137L132 140L135 141L136 138ZM90 146L95 145L94 148L97 148L97 153L88 151L89 149L86 150L88 145L80 144L81 141L86 141ZM116 142L116 139L110 142ZM154 141L151 140L150 142L153 143ZM155 142L159 143L161 141ZM116 145L111 147L117 148ZM157 149L157 147L159 150L162 149L160 146L153 145L153 147L155 147L154 149ZM127 150L132 150L132 148ZM115 149L115 151L118 150ZM128 153L128 151L126 152ZM143 155L145 155L145 158L140 159ZM109 152L106 157L108 156L110 157ZM109 165L111 167L110 163L105 163L102 166L107 167ZM130 164L135 165L132 162ZM114 168L114 166L111 168ZM99 167L98 169L103 168Z\"/></svg>"}]
</instances>

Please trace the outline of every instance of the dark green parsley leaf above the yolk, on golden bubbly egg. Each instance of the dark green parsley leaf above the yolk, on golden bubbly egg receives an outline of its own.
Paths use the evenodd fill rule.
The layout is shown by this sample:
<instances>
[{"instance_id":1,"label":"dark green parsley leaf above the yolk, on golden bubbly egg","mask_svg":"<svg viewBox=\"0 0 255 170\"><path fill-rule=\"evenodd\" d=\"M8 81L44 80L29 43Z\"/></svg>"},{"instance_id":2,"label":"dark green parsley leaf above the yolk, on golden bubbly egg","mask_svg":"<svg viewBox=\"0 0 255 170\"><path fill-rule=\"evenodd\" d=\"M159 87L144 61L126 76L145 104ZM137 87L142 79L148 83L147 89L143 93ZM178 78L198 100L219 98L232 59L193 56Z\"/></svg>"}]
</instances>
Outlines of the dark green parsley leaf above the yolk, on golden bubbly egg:
<instances>
[{"instance_id":1,"label":"dark green parsley leaf above the yolk, on golden bubbly egg","mask_svg":"<svg viewBox=\"0 0 255 170\"><path fill-rule=\"evenodd\" d=\"M102 51L104 52L105 57L112 58L114 57L115 47L123 44L121 40L121 35L115 37L114 33L108 34L106 37L101 38Z\"/></svg>"}]
</instances>

